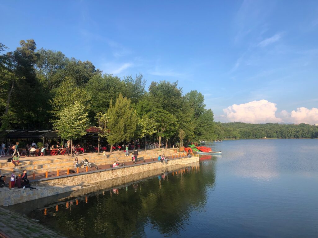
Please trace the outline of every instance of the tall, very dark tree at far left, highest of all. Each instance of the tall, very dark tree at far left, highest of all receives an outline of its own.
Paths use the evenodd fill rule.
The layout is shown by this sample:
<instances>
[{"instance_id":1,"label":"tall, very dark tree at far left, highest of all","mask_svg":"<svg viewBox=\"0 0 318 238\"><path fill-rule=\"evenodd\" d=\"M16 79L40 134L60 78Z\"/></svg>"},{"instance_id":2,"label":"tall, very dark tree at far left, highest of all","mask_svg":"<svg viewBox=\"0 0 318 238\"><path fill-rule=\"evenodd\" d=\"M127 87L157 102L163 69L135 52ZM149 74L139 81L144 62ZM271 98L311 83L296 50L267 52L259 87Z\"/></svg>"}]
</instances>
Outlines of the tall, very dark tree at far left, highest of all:
<instances>
[{"instance_id":1,"label":"tall, very dark tree at far left, highest of all","mask_svg":"<svg viewBox=\"0 0 318 238\"><path fill-rule=\"evenodd\" d=\"M9 121L25 127L39 122L39 110L35 102L42 100L39 97L40 87L34 69L38 58L35 52L36 44L34 40L22 40L20 46L14 52L8 52L5 58L2 57L5 59L6 69L10 72L6 74L9 89L6 91L6 105L2 117L2 124L8 127ZM2 129L5 130L3 125Z\"/></svg>"}]
</instances>

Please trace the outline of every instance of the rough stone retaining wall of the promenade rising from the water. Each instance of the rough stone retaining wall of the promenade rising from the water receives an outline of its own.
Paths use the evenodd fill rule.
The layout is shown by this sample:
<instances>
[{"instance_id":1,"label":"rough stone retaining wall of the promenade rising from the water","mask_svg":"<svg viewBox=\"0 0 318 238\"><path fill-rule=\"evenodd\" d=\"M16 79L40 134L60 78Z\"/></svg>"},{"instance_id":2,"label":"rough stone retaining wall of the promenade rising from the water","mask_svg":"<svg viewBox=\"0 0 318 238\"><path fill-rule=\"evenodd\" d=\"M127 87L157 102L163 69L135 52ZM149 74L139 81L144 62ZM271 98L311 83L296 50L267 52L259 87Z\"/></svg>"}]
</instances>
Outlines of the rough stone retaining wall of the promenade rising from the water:
<instances>
[{"instance_id":1,"label":"rough stone retaining wall of the promenade rising from the water","mask_svg":"<svg viewBox=\"0 0 318 238\"><path fill-rule=\"evenodd\" d=\"M43 178L32 182L35 190L11 188L0 191L0 205L10 206L22 202L66 193L90 186L90 183L111 180L118 177L136 174L152 169L165 168L176 164L198 162L199 157L169 159L168 164L160 161L146 162L113 169L89 171L80 174L62 175L54 178ZM67 185L66 185L67 184Z\"/></svg>"}]
</instances>

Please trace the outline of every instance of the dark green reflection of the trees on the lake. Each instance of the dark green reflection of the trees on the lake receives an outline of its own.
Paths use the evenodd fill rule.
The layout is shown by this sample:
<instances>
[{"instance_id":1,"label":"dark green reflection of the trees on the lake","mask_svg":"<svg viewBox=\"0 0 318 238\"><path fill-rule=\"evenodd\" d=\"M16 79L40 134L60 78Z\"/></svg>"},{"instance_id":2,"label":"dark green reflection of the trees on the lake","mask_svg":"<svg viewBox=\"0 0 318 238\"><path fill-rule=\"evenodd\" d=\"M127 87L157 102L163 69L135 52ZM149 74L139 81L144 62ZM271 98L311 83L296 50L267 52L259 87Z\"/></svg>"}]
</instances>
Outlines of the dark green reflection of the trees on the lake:
<instances>
[{"instance_id":1,"label":"dark green reflection of the trees on the lake","mask_svg":"<svg viewBox=\"0 0 318 238\"><path fill-rule=\"evenodd\" d=\"M69 237L146 237L149 227L176 235L191 212L204 207L206 184L214 180L214 173L204 175L198 163L165 169L144 180L46 205L29 216Z\"/></svg>"}]
</instances>

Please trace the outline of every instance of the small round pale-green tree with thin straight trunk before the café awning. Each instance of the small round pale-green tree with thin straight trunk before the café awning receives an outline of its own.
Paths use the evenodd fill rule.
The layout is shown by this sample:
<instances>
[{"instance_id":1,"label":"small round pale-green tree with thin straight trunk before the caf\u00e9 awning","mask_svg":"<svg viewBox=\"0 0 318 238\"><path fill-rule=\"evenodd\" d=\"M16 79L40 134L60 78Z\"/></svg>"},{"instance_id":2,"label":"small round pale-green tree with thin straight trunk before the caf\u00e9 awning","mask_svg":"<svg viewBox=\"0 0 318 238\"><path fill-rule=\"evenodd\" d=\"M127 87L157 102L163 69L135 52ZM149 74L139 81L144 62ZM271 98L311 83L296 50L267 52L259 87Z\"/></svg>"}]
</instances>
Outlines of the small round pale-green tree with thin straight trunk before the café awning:
<instances>
[{"instance_id":1,"label":"small round pale-green tree with thin straight trunk before the caf\u00e9 awning","mask_svg":"<svg viewBox=\"0 0 318 238\"><path fill-rule=\"evenodd\" d=\"M73 154L73 139L86 134L89 120L84 105L74 102L59 112L59 119L54 123L55 129L59 130L59 136L71 140L71 156Z\"/></svg>"}]
</instances>

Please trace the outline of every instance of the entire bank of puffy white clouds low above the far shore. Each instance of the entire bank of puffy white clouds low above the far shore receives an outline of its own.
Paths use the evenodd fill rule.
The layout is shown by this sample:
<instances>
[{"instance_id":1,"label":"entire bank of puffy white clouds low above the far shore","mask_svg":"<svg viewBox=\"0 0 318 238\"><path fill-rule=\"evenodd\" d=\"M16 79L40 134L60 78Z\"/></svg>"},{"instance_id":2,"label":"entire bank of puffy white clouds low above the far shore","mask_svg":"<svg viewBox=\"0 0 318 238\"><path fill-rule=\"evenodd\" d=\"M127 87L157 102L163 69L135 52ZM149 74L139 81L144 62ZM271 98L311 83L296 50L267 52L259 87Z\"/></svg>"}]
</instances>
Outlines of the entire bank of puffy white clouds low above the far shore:
<instances>
[{"instance_id":1,"label":"entire bank of puffy white clouds low above the far shore","mask_svg":"<svg viewBox=\"0 0 318 238\"><path fill-rule=\"evenodd\" d=\"M232 106L223 109L225 115L221 116L230 122L245 122L245 123L277 123L277 122L292 122L295 124L318 123L318 108L308 109L305 107L297 108L291 113L282 110L276 113L277 107L273 102L267 100L252 101L242 104L233 104Z\"/></svg>"}]
</instances>

